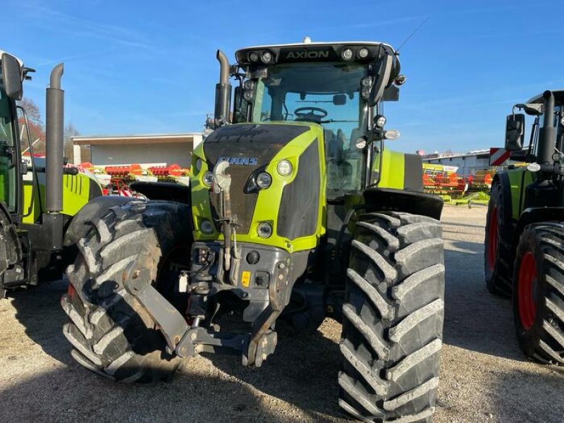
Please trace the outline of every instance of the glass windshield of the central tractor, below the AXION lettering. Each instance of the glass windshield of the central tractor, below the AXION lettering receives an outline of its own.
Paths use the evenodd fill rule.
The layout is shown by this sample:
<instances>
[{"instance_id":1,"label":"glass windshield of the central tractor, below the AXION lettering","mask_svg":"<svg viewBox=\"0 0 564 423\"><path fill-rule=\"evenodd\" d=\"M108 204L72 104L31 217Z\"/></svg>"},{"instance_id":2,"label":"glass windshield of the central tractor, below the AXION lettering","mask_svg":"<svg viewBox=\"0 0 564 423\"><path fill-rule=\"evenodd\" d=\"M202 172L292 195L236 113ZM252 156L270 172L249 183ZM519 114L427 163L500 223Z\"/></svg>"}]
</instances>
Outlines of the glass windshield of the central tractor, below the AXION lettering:
<instances>
[{"instance_id":1,"label":"glass windshield of the central tractor, below the AXION lettering","mask_svg":"<svg viewBox=\"0 0 564 423\"><path fill-rule=\"evenodd\" d=\"M362 154L355 140L365 133L367 104L359 63L292 63L269 66L256 82L251 121L309 121L324 128L327 194L362 190Z\"/></svg>"}]
</instances>

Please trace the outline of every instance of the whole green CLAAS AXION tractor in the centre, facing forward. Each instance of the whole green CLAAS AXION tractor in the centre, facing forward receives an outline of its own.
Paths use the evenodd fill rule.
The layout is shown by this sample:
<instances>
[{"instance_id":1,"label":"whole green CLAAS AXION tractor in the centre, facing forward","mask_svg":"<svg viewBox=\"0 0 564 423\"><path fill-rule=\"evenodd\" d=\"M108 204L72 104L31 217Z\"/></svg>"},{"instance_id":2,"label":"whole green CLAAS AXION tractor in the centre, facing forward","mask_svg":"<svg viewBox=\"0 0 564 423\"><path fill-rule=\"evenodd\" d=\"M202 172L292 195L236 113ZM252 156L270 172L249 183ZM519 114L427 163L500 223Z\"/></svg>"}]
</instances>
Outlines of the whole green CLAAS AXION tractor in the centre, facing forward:
<instances>
[{"instance_id":1,"label":"whole green CLAAS AXION tractor in the centre, facing forward","mask_svg":"<svg viewBox=\"0 0 564 423\"><path fill-rule=\"evenodd\" d=\"M63 331L92 372L154 381L200 353L259 367L277 323L312 333L331 317L343 324L341 407L429 422L443 202L422 192L419 157L384 149L398 131L384 129L383 102L405 76L388 44L308 41L241 49L232 66L217 52L190 199L164 201L163 188L163 201L92 219L68 269Z\"/></svg>"}]
</instances>

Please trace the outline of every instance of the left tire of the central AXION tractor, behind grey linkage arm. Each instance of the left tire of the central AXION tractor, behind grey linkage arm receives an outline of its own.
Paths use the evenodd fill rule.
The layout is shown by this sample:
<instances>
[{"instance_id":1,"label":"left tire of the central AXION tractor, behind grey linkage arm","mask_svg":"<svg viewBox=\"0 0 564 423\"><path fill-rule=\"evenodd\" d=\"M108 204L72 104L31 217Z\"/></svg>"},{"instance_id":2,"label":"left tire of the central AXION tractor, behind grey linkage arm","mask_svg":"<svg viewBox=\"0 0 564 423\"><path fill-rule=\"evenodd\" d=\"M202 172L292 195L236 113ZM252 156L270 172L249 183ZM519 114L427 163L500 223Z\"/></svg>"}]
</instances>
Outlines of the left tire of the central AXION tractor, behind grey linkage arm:
<instances>
[{"instance_id":1,"label":"left tire of the central AXION tractor, behind grey linkage arm","mask_svg":"<svg viewBox=\"0 0 564 423\"><path fill-rule=\"evenodd\" d=\"M61 298L69 317L63 333L82 366L124 382L171 379L181 360L166 352L156 323L125 290L123 278L135 263L137 270L148 269L147 283L154 281L162 295L178 300L171 298L176 285L168 268L188 265L189 225L190 208L172 202L129 202L90 221ZM186 263L172 264L170 257Z\"/></svg>"}]
</instances>

